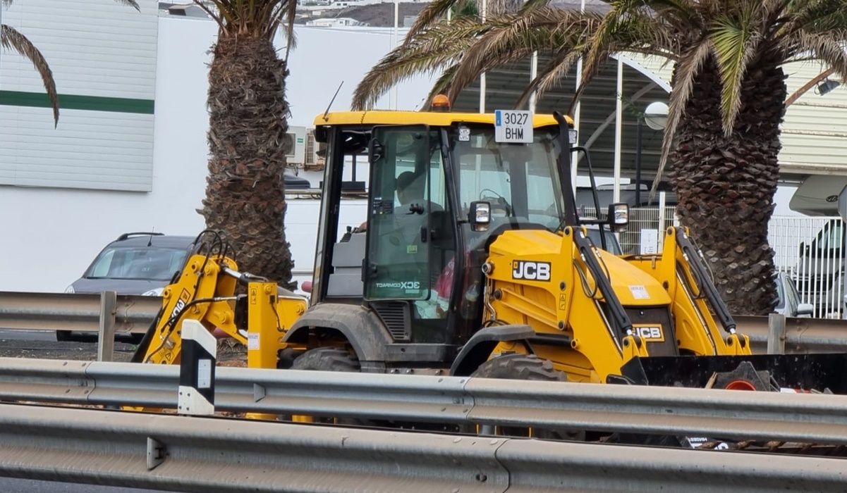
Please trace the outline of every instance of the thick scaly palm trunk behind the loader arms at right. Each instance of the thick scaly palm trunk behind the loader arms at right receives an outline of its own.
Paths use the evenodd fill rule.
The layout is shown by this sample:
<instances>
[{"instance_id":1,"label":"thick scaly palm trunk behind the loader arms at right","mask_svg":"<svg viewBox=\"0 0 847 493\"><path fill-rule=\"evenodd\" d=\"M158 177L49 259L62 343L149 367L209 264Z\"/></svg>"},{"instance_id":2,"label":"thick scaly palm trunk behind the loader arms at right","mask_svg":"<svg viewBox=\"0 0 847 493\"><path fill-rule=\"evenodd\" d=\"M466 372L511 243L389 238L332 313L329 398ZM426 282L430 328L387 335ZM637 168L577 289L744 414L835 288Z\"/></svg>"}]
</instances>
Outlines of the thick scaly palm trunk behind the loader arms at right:
<instances>
[{"instance_id":1,"label":"thick scaly palm trunk behind the loader arms at right","mask_svg":"<svg viewBox=\"0 0 847 493\"><path fill-rule=\"evenodd\" d=\"M726 137L720 77L715 64L706 63L678 128L671 183L680 221L700 244L730 311L765 315L777 300L767 223L779 176L786 88L776 63L750 68L738 123Z\"/></svg>"}]
</instances>

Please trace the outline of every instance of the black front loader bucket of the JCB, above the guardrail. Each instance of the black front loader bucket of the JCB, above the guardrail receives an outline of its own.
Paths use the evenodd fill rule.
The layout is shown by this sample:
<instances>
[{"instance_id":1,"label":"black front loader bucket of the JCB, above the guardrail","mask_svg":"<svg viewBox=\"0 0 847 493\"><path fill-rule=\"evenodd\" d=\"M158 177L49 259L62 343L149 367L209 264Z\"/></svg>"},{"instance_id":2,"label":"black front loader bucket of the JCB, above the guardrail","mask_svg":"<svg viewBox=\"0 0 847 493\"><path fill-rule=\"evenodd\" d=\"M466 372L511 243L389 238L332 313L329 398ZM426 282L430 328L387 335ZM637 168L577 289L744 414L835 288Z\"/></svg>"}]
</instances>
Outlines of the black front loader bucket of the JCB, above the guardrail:
<instances>
[{"instance_id":1,"label":"black front loader bucket of the JCB, above the guardrail","mask_svg":"<svg viewBox=\"0 0 847 493\"><path fill-rule=\"evenodd\" d=\"M847 395L847 354L755 354L750 356L658 356L634 358L624 364L621 372L635 385L706 386L712 375L733 374L745 368L755 375L767 375L778 387L798 391L825 392ZM752 370L750 369L750 370ZM746 377L729 379L716 388L745 388ZM731 385L731 386L730 386Z\"/></svg>"}]
</instances>

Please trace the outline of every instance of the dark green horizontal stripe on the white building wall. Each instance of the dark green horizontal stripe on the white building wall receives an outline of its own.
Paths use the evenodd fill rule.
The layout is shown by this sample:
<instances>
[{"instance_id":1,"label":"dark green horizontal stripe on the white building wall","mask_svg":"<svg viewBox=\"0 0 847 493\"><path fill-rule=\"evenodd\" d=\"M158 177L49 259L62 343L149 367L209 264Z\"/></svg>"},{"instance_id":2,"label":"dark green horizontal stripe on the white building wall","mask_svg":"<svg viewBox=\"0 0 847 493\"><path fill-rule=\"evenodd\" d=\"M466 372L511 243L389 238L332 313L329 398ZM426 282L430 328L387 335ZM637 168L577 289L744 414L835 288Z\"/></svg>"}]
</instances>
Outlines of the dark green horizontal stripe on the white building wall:
<instances>
[{"instance_id":1,"label":"dark green horizontal stripe on the white building wall","mask_svg":"<svg viewBox=\"0 0 847 493\"><path fill-rule=\"evenodd\" d=\"M50 100L43 92L0 90L0 105L18 107L49 108ZM127 97L58 95L58 106L64 110L90 110L94 112L122 112L153 114L152 99L130 99Z\"/></svg>"}]
</instances>

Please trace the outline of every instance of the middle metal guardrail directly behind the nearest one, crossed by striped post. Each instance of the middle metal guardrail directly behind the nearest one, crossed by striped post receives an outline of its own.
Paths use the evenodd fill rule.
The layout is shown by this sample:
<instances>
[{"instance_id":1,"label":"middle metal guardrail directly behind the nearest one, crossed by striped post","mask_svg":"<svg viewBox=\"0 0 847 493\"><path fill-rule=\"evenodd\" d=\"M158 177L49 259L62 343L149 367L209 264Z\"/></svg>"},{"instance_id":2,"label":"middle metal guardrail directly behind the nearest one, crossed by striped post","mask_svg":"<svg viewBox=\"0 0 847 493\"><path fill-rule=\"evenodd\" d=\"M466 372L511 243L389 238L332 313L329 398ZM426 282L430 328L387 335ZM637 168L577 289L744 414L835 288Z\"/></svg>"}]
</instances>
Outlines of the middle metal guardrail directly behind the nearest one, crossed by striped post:
<instances>
[{"instance_id":1,"label":"middle metal guardrail directly behind the nearest one, crossed by striped post","mask_svg":"<svg viewBox=\"0 0 847 493\"><path fill-rule=\"evenodd\" d=\"M0 400L176 408L176 366L0 359ZM847 445L847 396L216 369L218 411Z\"/></svg>"}]
</instances>

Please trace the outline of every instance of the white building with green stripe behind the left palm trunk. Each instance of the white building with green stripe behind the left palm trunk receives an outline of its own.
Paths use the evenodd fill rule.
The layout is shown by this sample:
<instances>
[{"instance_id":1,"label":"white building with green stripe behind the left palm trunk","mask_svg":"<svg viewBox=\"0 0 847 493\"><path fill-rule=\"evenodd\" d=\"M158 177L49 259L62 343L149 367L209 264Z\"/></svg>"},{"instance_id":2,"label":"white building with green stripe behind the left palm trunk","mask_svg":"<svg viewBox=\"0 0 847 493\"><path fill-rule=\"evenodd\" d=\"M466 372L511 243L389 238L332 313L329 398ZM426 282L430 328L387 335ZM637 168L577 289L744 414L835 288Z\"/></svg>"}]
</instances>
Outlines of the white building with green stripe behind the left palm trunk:
<instances>
[{"instance_id":1,"label":"white building with green stripe behind the left palm trunk","mask_svg":"<svg viewBox=\"0 0 847 493\"><path fill-rule=\"evenodd\" d=\"M159 17L143 5L138 13L112 0L18 2L4 7L3 23L30 36L51 64L59 93L75 97L62 98L53 129L45 104L9 99L42 94L31 64L11 52L0 55L0 291L63 291L120 233L199 233L208 50L217 25ZM332 110L349 109L353 89L390 49L392 34L298 26L286 86L291 125L312 126L342 83ZM357 47L357 56L326 49L334 46ZM404 84L399 105L419 107L429 85L426 79ZM124 106L94 106L112 100ZM314 203L289 206L298 270L311 269L313 210Z\"/></svg>"}]
</instances>

